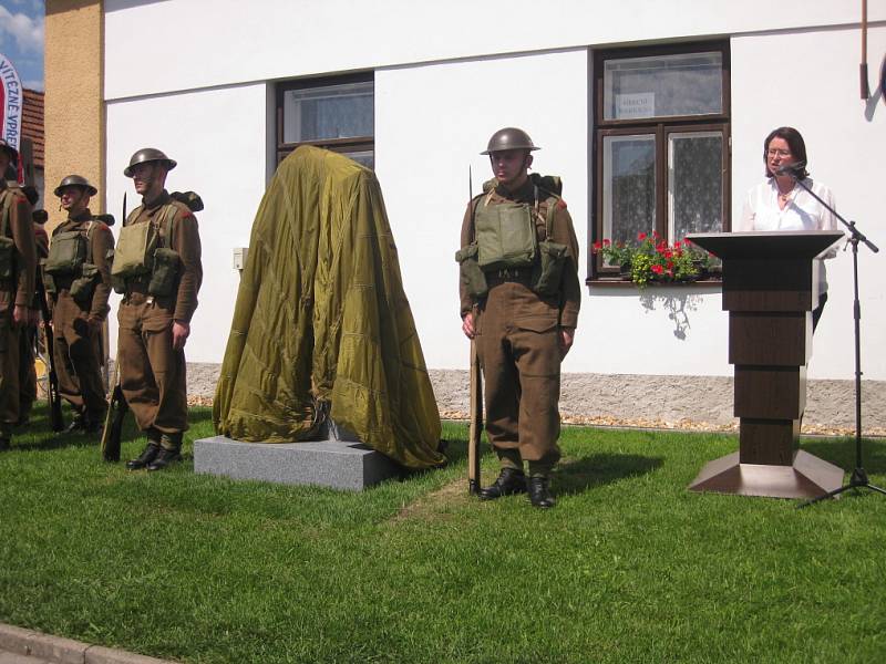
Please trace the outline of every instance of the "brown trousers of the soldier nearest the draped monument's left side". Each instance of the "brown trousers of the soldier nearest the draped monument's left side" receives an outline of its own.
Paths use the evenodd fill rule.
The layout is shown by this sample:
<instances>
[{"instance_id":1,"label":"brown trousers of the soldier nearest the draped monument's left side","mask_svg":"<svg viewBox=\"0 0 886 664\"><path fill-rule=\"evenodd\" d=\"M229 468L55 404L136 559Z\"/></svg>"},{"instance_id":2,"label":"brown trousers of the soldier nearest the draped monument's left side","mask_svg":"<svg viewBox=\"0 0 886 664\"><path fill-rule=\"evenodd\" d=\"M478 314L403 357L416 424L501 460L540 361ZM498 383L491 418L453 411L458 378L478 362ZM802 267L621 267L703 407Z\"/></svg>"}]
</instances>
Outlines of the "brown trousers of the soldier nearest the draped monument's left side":
<instances>
[{"instance_id":1,"label":"brown trousers of the soldier nearest the draped monument's left side","mask_svg":"<svg viewBox=\"0 0 886 664\"><path fill-rule=\"evenodd\" d=\"M131 293L117 312L120 385L138 428L163 434L187 429L185 352L173 350L173 312Z\"/></svg>"}]
</instances>

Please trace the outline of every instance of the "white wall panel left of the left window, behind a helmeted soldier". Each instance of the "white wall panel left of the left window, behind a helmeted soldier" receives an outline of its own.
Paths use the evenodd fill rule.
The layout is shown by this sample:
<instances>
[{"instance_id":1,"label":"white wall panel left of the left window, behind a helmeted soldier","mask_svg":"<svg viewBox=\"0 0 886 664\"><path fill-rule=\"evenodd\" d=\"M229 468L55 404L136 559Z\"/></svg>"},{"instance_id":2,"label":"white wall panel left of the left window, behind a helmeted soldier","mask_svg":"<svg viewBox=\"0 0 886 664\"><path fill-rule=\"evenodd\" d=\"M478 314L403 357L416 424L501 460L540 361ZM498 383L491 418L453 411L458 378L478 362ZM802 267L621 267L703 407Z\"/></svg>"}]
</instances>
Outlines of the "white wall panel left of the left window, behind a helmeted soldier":
<instances>
[{"instance_id":1,"label":"white wall panel left of the left window, behind a helmeted soldier","mask_svg":"<svg viewBox=\"0 0 886 664\"><path fill-rule=\"evenodd\" d=\"M119 219L115 235L124 191L130 210L141 203L123 169L142 147L157 147L178 162L166 188L197 191L206 206L197 212L204 276L187 342L189 362L220 362L225 354L239 280L233 249L249 245L265 193L266 104L264 84L107 104L106 203ZM117 301L113 295L114 312ZM113 354L116 317L110 320Z\"/></svg>"}]
</instances>

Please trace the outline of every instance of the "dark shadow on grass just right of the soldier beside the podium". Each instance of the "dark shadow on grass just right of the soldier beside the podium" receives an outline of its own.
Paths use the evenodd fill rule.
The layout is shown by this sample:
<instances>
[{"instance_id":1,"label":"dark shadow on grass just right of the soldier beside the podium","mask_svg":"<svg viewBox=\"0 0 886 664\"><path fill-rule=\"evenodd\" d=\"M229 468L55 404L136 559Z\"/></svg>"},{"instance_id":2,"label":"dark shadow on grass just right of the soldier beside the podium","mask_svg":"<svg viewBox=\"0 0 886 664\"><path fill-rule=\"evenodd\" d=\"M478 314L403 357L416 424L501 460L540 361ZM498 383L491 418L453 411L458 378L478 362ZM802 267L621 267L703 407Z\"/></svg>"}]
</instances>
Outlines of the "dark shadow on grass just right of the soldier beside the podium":
<instances>
[{"instance_id":1,"label":"dark shadow on grass just right of the soldier beside the podium","mask_svg":"<svg viewBox=\"0 0 886 664\"><path fill-rule=\"evenodd\" d=\"M552 475L552 489L558 494L578 494L652 473L663 464L661 457L638 454L595 454L580 459L566 459Z\"/></svg>"}]
</instances>

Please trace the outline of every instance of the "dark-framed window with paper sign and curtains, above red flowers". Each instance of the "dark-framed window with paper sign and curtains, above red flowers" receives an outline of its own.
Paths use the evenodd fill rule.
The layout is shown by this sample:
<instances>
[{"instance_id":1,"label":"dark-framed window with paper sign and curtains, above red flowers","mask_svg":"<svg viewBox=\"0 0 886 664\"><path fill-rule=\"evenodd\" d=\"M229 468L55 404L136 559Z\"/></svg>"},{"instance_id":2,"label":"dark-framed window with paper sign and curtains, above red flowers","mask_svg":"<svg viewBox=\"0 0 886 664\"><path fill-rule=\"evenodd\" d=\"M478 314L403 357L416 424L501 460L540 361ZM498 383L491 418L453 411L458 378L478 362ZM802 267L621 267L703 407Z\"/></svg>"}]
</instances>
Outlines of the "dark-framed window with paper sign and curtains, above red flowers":
<instances>
[{"instance_id":1,"label":"dark-framed window with paper sign and curtains, above red flowers","mask_svg":"<svg viewBox=\"0 0 886 664\"><path fill-rule=\"evenodd\" d=\"M729 48L595 52L594 241L730 229ZM591 256L591 279L618 272Z\"/></svg>"}]
</instances>

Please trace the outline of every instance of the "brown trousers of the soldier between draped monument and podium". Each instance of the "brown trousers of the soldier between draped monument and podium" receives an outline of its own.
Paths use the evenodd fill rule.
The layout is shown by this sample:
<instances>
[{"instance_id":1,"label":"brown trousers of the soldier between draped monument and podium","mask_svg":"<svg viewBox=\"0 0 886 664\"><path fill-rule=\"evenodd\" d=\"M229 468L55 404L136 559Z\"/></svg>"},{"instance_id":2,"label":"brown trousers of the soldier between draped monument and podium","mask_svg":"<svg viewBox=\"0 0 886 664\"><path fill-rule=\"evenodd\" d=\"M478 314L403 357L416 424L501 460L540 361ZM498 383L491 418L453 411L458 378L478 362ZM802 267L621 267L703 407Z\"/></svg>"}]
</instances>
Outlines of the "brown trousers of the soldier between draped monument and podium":
<instances>
[{"instance_id":1,"label":"brown trousers of the soldier between draped monument and podium","mask_svg":"<svg viewBox=\"0 0 886 664\"><path fill-rule=\"evenodd\" d=\"M494 286L477 315L486 435L496 449L553 466L560 457L560 343L556 303L527 286Z\"/></svg>"}]
</instances>

